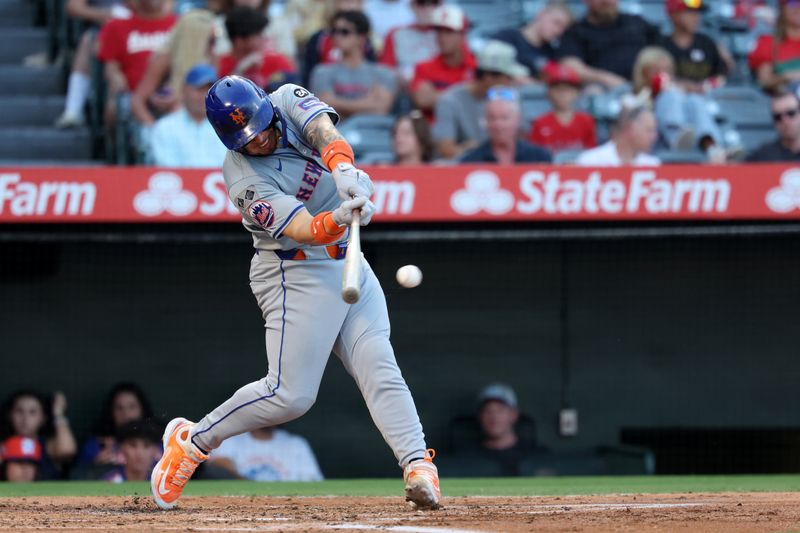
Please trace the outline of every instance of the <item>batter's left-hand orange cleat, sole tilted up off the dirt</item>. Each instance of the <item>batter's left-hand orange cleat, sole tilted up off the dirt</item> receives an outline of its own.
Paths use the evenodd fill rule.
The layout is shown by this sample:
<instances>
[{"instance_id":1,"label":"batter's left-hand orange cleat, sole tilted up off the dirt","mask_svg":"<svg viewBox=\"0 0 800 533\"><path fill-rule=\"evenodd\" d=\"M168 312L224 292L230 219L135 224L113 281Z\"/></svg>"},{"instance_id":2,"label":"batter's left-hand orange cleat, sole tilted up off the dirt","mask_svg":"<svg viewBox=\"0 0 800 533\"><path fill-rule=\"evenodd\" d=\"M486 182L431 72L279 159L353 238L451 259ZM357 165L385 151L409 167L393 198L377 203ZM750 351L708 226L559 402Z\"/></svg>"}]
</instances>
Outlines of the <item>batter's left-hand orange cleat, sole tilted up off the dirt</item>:
<instances>
[{"instance_id":1,"label":"batter's left-hand orange cleat, sole tilted up off the dirt","mask_svg":"<svg viewBox=\"0 0 800 533\"><path fill-rule=\"evenodd\" d=\"M185 418L174 418L164 430L164 455L150 474L150 491L162 509L177 505L197 465L208 459L208 455L189 440L193 426L194 423Z\"/></svg>"}]
</instances>

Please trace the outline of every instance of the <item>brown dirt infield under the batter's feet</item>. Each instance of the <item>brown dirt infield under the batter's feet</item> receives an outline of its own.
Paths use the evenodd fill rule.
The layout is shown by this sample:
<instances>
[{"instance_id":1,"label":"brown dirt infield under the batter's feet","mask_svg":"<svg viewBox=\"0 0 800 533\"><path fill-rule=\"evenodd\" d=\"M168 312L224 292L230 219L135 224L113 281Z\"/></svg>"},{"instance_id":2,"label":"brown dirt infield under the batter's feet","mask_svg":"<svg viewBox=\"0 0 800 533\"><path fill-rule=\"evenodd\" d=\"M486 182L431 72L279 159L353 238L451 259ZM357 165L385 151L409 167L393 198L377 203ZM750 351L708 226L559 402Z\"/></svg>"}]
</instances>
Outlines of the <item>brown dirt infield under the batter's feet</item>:
<instances>
[{"instance_id":1,"label":"brown dirt infield under the batter's feet","mask_svg":"<svg viewBox=\"0 0 800 533\"><path fill-rule=\"evenodd\" d=\"M798 493L446 498L417 512L400 498L146 497L0 499L0 531L792 531Z\"/></svg>"}]
</instances>

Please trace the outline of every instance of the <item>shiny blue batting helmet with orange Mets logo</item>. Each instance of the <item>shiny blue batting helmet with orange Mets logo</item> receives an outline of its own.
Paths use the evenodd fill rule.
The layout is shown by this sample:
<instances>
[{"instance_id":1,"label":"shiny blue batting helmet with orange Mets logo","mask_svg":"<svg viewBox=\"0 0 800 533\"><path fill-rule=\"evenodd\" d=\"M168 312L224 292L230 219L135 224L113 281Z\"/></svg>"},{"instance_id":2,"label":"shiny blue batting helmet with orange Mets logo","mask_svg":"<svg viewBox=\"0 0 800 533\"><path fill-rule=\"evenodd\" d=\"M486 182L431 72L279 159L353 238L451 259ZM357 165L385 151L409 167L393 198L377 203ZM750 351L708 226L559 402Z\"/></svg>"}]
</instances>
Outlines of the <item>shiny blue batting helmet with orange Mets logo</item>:
<instances>
[{"instance_id":1,"label":"shiny blue batting helmet with orange Mets logo","mask_svg":"<svg viewBox=\"0 0 800 533\"><path fill-rule=\"evenodd\" d=\"M269 127L275 108L267 93L252 81L225 76L208 90L206 116L222 144L239 150Z\"/></svg>"}]
</instances>

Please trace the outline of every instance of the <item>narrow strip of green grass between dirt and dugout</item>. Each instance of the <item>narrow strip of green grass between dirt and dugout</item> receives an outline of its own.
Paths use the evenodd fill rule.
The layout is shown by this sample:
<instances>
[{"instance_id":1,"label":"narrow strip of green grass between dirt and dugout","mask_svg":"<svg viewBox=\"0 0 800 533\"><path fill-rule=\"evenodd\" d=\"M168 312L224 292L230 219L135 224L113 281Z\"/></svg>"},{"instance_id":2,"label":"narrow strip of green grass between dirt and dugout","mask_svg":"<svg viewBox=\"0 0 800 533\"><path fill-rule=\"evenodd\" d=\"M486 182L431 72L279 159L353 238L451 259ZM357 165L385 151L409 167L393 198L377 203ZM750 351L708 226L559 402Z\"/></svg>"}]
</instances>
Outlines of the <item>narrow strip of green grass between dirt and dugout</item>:
<instances>
[{"instance_id":1,"label":"narrow strip of green grass between dirt and dugout","mask_svg":"<svg viewBox=\"0 0 800 533\"><path fill-rule=\"evenodd\" d=\"M799 475L646 476L443 479L445 496L557 496L691 492L800 491ZM0 483L0 497L148 496L147 483L97 481ZM398 496L400 479L337 479L319 483L193 481L187 496Z\"/></svg>"}]
</instances>

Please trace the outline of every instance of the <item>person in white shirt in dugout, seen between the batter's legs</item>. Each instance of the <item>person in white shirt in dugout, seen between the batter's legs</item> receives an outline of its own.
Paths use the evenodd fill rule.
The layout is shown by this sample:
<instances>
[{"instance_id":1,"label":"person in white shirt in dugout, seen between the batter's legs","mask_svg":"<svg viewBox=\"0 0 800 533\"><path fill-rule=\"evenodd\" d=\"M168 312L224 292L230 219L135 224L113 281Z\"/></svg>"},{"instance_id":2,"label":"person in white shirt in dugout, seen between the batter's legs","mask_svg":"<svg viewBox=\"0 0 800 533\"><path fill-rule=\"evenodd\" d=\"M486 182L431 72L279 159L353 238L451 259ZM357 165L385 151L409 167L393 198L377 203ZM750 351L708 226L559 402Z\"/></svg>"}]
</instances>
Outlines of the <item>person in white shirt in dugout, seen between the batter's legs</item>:
<instances>
[{"instance_id":1,"label":"person in white shirt in dugout, seen between the batter's legs","mask_svg":"<svg viewBox=\"0 0 800 533\"><path fill-rule=\"evenodd\" d=\"M252 481L321 481L308 441L283 429L264 428L227 439L209 462Z\"/></svg>"}]
</instances>

